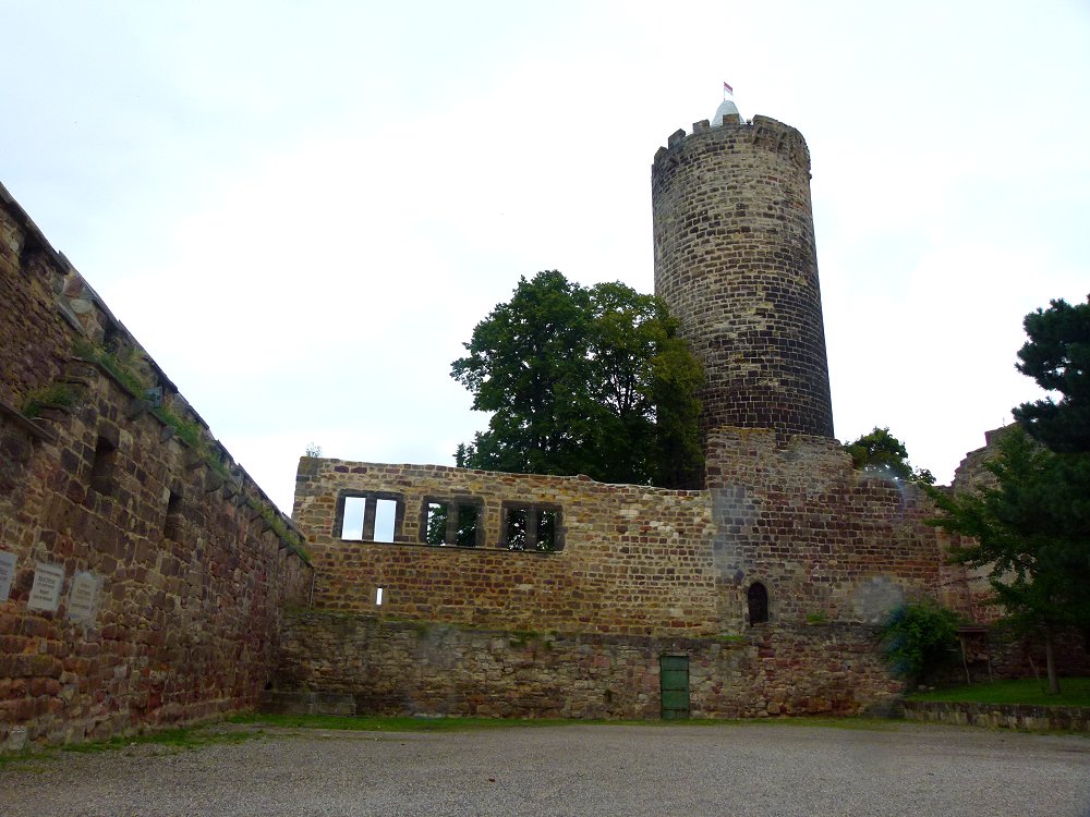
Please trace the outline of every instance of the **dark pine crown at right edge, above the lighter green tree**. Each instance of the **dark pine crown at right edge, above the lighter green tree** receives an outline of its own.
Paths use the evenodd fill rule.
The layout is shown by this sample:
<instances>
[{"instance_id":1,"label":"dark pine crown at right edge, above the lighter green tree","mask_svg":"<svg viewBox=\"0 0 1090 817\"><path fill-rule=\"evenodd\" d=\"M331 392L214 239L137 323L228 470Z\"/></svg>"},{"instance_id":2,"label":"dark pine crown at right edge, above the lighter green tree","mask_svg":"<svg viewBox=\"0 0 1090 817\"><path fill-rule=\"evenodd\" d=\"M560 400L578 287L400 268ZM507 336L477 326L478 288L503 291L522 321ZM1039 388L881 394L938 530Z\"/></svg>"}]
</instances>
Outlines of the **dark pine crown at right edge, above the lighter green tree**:
<instances>
[{"instance_id":1,"label":"dark pine crown at right edge, above the lighter green tree","mask_svg":"<svg viewBox=\"0 0 1090 817\"><path fill-rule=\"evenodd\" d=\"M1022 403L1015 418L1053 451L1090 452L1090 296L1074 306L1052 301L1024 326L1029 340L1018 352L1018 370L1062 398Z\"/></svg>"}]
</instances>

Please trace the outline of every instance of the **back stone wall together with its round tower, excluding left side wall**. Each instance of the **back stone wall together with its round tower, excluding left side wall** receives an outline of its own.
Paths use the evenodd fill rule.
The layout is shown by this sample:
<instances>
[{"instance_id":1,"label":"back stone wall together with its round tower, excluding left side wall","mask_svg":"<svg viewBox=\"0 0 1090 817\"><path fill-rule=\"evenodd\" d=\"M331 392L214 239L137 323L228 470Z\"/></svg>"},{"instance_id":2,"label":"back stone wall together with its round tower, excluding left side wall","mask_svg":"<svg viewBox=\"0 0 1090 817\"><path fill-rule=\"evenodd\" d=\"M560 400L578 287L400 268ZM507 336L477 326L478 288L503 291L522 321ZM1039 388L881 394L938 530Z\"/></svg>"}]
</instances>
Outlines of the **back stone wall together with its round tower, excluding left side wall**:
<instances>
[{"instance_id":1,"label":"back stone wall together with its round tower, excluding left side wall","mask_svg":"<svg viewBox=\"0 0 1090 817\"><path fill-rule=\"evenodd\" d=\"M993 618L927 495L832 439L809 180L802 136L763 117L655 156L656 294L707 377L703 490L304 458L314 609L286 621L268 704L656 717L668 661L695 717L853 712L899 691L891 609ZM548 547L516 547L534 524Z\"/></svg>"}]
</instances>

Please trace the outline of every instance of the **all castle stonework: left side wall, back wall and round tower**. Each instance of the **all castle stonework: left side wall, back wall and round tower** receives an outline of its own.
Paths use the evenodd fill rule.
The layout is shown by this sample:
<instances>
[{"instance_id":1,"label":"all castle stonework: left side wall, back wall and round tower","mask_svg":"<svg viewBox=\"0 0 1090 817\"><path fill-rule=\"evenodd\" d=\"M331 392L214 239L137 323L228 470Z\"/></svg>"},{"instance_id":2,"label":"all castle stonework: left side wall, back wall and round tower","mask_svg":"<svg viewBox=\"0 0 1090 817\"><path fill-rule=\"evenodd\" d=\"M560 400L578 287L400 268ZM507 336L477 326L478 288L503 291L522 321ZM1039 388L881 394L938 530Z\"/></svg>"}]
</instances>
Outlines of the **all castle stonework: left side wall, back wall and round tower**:
<instances>
[{"instance_id":1,"label":"all castle stonework: left side wall, back wall and round tower","mask_svg":"<svg viewBox=\"0 0 1090 817\"><path fill-rule=\"evenodd\" d=\"M294 521L0 187L0 751L259 698L887 706L893 607L994 611L946 563L927 496L853 471L832 439L809 171L798 131L763 117L698 122L655 157L656 291L707 375L701 490L305 456Z\"/></svg>"}]
</instances>

